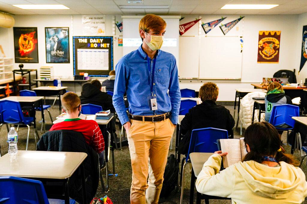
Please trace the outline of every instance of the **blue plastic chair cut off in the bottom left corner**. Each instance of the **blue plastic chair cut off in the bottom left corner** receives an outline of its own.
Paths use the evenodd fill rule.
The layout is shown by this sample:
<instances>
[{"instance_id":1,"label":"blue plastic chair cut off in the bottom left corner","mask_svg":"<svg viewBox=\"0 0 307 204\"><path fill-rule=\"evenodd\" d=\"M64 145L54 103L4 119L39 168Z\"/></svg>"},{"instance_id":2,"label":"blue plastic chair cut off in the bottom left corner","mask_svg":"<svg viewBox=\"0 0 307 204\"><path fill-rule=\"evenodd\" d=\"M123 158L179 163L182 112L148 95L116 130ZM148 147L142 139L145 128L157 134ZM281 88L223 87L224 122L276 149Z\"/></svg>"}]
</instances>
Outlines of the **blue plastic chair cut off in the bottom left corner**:
<instances>
[{"instance_id":1,"label":"blue plastic chair cut off in the bottom left corner","mask_svg":"<svg viewBox=\"0 0 307 204\"><path fill-rule=\"evenodd\" d=\"M48 199L44 185L41 181L19 178L15 176L0 176L0 202L32 203L32 204L57 204L65 203L64 200ZM76 201L70 199L70 204Z\"/></svg>"}]
</instances>

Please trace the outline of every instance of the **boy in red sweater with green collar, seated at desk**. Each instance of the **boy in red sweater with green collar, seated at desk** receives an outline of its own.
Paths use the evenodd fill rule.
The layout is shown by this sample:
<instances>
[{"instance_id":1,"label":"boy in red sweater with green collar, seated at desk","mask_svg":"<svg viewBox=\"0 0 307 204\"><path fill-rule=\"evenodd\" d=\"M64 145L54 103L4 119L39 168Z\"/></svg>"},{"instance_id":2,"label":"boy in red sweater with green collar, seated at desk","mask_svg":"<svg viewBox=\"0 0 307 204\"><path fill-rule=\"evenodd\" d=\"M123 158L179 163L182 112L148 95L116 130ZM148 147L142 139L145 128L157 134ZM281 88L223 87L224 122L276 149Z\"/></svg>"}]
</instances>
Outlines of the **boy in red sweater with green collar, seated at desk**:
<instances>
[{"instance_id":1,"label":"boy in red sweater with green collar, seated at desk","mask_svg":"<svg viewBox=\"0 0 307 204\"><path fill-rule=\"evenodd\" d=\"M79 118L81 113L81 102L79 96L74 92L67 92L61 98L63 112L66 113L67 119L63 122L53 124L52 130L72 130L81 132L85 142L99 154L99 163L103 168L104 162L104 140L101 130L96 121L82 120Z\"/></svg>"}]
</instances>

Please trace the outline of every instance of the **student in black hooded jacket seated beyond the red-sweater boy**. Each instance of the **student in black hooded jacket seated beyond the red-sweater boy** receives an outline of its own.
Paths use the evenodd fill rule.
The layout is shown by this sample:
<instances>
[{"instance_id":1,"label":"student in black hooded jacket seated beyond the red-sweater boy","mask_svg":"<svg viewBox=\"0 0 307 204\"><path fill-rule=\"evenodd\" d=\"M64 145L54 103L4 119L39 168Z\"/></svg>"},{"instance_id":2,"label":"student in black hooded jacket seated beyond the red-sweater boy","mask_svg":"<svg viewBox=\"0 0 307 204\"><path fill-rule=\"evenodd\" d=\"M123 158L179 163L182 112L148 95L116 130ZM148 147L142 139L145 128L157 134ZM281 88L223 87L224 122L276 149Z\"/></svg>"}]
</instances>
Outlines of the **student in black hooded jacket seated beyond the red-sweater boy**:
<instances>
[{"instance_id":1,"label":"student in black hooded jacket seated beyond the red-sweater boy","mask_svg":"<svg viewBox=\"0 0 307 204\"><path fill-rule=\"evenodd\" d=\"M91 103L101 106L103 110L114 110L112 96L101 91L101 83L98 80L92 80L82 86L80 100L81 104Z\"/></svg>"}]
</instances>

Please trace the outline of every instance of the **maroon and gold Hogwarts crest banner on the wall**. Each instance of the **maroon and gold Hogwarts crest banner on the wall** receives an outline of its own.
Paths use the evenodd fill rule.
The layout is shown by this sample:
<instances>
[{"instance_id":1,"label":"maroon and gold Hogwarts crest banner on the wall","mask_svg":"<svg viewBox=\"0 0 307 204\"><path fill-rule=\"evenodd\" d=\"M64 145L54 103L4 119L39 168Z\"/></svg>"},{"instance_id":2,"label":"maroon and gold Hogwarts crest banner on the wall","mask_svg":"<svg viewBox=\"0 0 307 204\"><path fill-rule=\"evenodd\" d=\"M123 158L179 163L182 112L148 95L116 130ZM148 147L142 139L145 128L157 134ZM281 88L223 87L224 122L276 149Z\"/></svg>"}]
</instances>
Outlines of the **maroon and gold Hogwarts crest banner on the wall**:
<instances>
[{"instance_id":1,"label":"maroon and gold Hogwarts crest banner on the wall","mask_svg":"<svg viewBox=\"0 0 307 204\"><path fill-rule=\"evenodd\" d=\"M281 31L259 31L258 63L278 63Z\"/></svg>"}]
</instances>

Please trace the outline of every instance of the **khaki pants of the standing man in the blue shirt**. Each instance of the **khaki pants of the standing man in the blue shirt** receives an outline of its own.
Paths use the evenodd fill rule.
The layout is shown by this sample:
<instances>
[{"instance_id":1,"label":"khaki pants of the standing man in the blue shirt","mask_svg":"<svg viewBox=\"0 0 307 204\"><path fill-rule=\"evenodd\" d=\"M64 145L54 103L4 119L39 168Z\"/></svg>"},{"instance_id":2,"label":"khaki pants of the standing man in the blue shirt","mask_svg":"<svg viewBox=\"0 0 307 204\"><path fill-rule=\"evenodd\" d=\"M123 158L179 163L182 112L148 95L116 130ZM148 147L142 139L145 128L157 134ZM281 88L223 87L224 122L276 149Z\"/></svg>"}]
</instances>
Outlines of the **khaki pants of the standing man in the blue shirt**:
<instances>
[{"instance_id":1,"label":"khaki pants of the standing man in the blue shirt","mask_svg":"<svg viewBox=\"0 0 307 204\"><path fill-rule=\"evenodd\" d=\"M132 167L131 204L158 203L174 129L169 119L156 123L132 120L127 134Z\"/></svg>"}]
</instances>

